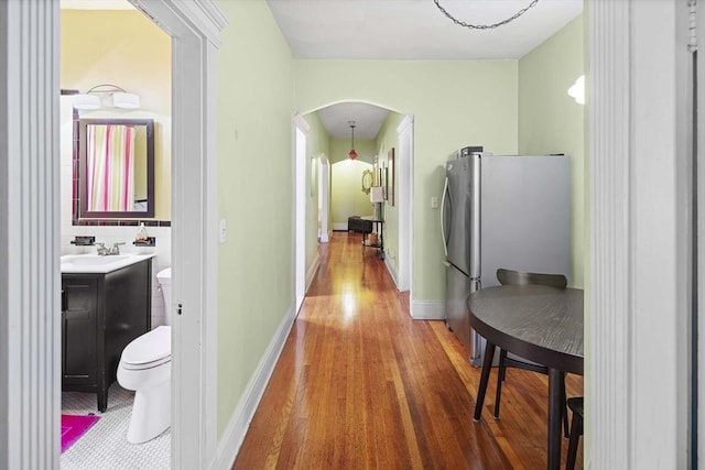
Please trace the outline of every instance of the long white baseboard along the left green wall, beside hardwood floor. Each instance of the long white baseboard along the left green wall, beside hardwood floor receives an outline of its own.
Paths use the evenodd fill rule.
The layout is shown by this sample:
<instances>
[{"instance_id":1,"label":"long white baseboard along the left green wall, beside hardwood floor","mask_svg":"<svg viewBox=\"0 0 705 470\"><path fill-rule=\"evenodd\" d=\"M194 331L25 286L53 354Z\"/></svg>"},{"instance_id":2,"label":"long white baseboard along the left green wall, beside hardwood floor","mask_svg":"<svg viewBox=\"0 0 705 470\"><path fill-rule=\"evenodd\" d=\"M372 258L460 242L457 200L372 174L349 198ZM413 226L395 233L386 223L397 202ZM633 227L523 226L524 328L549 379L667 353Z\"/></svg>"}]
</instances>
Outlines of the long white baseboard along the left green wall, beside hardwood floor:
<instances>
[{"instance_id":1,"label":"long white baseboard along the left green wall, beside hardwood floor","mask_svg":"<svg viewBox=\"0 0 705 470\"><path fill-rule=\"evenodd\" d=\"M235 462L235 459L240 451L240 446L242 446L245 435L250 427L257 406L259 405L260 400L262 400L264 389L269 383L274 365L276 365L279 354L282 352L284 343L286 342L286 337L289 336L289 331L291 331L295 318L296 311L291 307L279 325L279 329L270 341L264 356L260 360L257 370L250 379L250 382L247 384L247 389L240 398L240 403L238 403L238 406L235 408L235 412L230 417L228 427L223 433L223 437L220 438L216 450L216 458L210 467L212 470L229 470L232 468L232 462Z\"/></svg>"}]
</instances>

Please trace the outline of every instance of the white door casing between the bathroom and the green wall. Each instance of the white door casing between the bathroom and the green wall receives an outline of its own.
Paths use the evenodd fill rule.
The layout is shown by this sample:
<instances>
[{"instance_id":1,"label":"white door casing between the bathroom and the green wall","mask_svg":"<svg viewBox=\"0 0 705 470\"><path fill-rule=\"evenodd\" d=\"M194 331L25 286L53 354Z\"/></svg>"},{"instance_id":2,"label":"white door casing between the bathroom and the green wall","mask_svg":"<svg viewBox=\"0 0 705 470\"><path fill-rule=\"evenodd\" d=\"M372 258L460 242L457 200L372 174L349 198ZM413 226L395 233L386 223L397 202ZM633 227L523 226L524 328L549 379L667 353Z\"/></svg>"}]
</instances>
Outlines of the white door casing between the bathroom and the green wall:
<instances>
[{"instance_id":1,"label":"white door casing between the bathroom and the green wall","mask_svg":"<svg viewBox=\"0 0 705 470\"><path fill-rule=\"evenodd\" d=\"M172 468L206 468L217 445L215 98L227 20L210 0L130 1L173 39Z\"/></svg>"}]
</instances>

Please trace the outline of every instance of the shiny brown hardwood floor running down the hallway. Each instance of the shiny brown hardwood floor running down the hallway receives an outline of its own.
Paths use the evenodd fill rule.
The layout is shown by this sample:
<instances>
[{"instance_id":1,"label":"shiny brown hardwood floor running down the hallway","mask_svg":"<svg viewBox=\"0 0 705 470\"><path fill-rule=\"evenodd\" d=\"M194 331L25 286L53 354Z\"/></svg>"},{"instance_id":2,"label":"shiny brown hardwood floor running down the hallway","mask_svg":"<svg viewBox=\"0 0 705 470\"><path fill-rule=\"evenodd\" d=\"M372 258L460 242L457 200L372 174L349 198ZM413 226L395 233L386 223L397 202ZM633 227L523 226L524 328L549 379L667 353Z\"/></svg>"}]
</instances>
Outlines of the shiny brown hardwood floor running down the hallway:
<instances>
[{"instance_id":1,"label":"shiny brown hardwood floor running down the hallway","mask_svg":"<svg viewBox=\"0 0 705 470\"><path fill-rule=\"evenodd\" d=\"M480 370L443 321L411 319L408 296L360 242L335 232L322 244L321 267L232 468L545 468L546 376L508 370L495 420L492 372L474 423ZM568 375L566 385L570 396L582 395L582 378ZM582 447L581 439L581 469Z\"/></svg>"}]
</instances>

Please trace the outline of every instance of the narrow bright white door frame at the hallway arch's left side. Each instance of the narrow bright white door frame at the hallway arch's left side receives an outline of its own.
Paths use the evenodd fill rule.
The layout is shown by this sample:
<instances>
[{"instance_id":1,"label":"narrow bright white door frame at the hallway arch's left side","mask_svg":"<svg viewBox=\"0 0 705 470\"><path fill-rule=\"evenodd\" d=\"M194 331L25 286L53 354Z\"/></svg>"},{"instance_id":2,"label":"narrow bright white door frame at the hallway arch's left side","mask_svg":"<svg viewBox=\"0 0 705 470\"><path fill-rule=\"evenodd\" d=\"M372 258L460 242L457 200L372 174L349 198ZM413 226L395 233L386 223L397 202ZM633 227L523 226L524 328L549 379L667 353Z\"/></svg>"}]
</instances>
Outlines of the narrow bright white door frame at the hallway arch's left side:
<instances>
[{"instance_id":1,"label":"narrow bright white door frame at the hallway arch's left side","mask_svg":"<svg viewBox=\"0 0 705 470\"><path fill-rule=\"evenodd\" d=\"M294 175L294 200L296 201L293 214L294 225L294 299L296 313L301 308L306 295L306 175L308 174L306 159L306 140L311 127L300 114L294 114L293 125L293 155L292 165Z\"/></svg>"}]
</instances>

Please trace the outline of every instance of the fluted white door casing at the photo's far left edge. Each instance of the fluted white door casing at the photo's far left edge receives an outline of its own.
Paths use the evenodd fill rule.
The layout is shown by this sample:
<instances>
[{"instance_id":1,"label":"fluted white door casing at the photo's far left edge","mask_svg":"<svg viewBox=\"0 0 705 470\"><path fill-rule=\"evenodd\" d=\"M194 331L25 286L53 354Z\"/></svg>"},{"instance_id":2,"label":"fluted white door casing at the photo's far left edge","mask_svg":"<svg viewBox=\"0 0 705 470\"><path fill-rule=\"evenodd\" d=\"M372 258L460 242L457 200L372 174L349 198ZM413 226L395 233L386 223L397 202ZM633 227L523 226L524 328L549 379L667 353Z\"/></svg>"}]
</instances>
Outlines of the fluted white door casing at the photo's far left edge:
<instances>
[{"instance_id":1,"label":"fluted white door casing at the photo's far left edge","mask_svg":"<svg viewBox=\"0 0 705 470\"><path fill-rule=\"evenodd\" d=\"M59 467L58 23L58 2L0 2L3 469Z\"/></svg>"}]
</instances>

